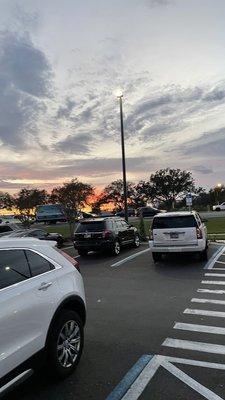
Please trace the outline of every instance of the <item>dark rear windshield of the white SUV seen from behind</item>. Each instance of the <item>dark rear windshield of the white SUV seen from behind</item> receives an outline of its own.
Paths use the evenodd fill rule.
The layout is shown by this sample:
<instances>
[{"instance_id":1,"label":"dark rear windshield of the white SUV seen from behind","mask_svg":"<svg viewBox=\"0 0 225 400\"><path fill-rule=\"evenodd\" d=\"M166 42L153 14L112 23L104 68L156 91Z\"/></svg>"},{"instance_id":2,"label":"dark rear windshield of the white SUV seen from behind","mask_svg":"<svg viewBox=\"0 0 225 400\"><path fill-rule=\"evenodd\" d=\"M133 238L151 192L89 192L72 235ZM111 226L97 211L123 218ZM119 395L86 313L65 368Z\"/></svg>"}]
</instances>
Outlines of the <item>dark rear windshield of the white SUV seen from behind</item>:
<instances>
[{"instance_id":1,"label":"dark rear windshield of the white SUV seen from behind","mask_svg":"<svg viewBox=\"0 0 225 400\"><path fill-rule=\"evenodd\" d=\"M195 228L196 226L197 222L192 215L154 218L152 224L153 229Z\"/></svg>"}]
</instances>

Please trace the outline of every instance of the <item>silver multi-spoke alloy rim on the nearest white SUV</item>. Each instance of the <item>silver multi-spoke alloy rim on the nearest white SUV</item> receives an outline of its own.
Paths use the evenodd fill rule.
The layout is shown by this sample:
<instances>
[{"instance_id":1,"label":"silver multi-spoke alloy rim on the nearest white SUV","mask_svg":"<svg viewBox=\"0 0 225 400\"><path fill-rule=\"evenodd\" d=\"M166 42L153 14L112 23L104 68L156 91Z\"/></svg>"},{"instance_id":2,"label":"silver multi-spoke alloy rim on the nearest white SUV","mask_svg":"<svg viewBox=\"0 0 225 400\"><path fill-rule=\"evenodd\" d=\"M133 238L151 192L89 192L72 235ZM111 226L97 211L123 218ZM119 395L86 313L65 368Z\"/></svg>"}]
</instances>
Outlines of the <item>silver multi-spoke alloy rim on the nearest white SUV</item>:
<instances>
[{"instance_id":1,"label":"silver multi-spoke alloy rim on the nearest white SUV","mask_svg":"<svg viewBox=\"0 0 225 400\"><path fill-rule=\"evenodd\" d=\"M62 367L69 368L75 363L80 346L79 325L74 320L67 321L60 331L57 342L57 357Z\"/></svg>"}]
</instances>

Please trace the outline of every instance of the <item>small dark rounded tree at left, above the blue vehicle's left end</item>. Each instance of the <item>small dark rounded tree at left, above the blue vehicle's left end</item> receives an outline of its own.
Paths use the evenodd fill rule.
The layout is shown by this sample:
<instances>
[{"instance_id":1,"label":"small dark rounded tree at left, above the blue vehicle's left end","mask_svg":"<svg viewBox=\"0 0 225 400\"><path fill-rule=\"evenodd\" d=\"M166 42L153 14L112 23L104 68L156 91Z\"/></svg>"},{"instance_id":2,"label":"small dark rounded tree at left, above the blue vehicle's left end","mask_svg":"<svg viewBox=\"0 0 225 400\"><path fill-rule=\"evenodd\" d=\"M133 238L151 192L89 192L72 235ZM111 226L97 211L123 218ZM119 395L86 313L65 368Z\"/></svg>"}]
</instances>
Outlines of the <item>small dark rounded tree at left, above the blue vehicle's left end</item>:
<instances>
[{"instance_id":1,"label":"small dark rounded tree at left, above the blue vehicle's left end","mask_svg":"<svg viewBox=\"0 0 225 400\"><path fill-rule=\"evenodd\" d=\"M46 204L47 198L46 190L23 188L18 193L15 204L21 213L30 215L37 205Z\"/></svg>"}]
</instances>

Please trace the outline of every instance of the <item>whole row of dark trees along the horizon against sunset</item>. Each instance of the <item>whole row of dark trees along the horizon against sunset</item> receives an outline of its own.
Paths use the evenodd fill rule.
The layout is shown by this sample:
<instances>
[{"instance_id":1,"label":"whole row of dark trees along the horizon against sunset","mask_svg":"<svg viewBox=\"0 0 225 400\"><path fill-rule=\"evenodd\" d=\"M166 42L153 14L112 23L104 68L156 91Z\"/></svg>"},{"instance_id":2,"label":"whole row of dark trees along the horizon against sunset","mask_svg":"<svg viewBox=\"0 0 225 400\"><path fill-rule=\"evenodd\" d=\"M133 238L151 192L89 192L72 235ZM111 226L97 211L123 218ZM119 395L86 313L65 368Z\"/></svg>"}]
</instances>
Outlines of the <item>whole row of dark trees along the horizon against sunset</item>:
<instances>
[{"instance_id":1,"label":"whole row of dark trees along the horizon against sunset","mask_svg":"<svg viewBox=\"0 0 225 400\"><path fill-rule=\"evenodd\" d=\"M206 191L196 186L191 172L180 169L160 169L148 180L127 183L128 205L132 208L145 206L147 202L167 210L182 208L185 207L187 193L192 193L194 205L199 209L225 201L224 186ZM106 205L119 211L124 207L123 181L111 182L98 195L92 185L77 178L53 188L51 193L37 188L23 188L15 196L0 192L1 208L12 210L15 207L25 215L32 214L37 205L52 203L60 203L76 211L90 206L92 212L98 213Z\"/></svg>"}]
</instances>

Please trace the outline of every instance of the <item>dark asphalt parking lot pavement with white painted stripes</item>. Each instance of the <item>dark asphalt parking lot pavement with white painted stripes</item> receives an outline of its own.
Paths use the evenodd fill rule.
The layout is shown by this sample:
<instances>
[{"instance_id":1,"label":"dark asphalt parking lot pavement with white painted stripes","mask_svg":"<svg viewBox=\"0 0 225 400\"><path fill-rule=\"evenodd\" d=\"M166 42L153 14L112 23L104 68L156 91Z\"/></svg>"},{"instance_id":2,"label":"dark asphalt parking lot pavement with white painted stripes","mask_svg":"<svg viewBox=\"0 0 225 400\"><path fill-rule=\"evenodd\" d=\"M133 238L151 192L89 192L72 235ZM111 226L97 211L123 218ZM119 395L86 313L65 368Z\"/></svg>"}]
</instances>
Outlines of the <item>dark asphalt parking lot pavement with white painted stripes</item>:
<instances>
[{"instance_id":1,"label":"dark asphalt parking lot pavement with white painted stripes","mask_svg":"<svg viewBox=\"0 0 225 400\"><path fill-rule=\"evenodd\" d=\"M225 301L225 277L206 275L223 275L223 272L225 275L225 264L221 264L225 256L217 253L213 263L207 264L209 268L224 267L224 271L218 271L203 269L204 263L191 256L173 255L153 264L150 252L143 251L146 249L142 245L138 250L124 250L119 257L90 254L80 258L88 308L80 365L74 375L54 384L38 373L17 389L16 398L218 400L225 397L225 371L215 368L215 364L225 364L224 305L208 301ZM139 256L130 257L139 251ZM211 246L209 255L217 251L218 247ZM214 283L204 283L205 280ZM220 284L215 283L218 280ZM209 332L209 326L220 333ZM208 389L204 391L202 386ZM9 399L15 399L15 392L8 395Z\"/></svg>"}]
</instances>

